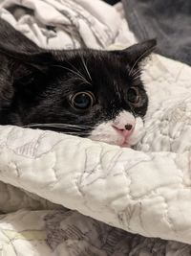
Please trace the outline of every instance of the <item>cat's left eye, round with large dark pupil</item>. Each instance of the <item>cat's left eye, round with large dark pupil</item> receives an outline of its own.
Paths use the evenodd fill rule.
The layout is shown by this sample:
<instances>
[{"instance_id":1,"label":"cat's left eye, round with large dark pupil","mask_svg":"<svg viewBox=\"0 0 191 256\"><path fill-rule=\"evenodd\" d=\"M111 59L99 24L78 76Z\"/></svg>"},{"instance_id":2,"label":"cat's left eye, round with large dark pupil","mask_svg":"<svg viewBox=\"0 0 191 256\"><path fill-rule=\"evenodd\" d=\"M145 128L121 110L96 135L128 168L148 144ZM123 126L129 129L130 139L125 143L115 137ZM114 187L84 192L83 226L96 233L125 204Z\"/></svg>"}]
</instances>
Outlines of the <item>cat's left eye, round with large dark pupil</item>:
<instances>
[{"instance_id":1,"label":"cat's left eye, round with large dark pupil","mask_svg":"<svg viewBox=\"0 0 191 256\"><path fill-rule=\"evenodd\" d=\"M87 110L95 104L95 96L90 91L77 92L71 97L71 105L79 110Z\"/></svg>"}]
</instances>

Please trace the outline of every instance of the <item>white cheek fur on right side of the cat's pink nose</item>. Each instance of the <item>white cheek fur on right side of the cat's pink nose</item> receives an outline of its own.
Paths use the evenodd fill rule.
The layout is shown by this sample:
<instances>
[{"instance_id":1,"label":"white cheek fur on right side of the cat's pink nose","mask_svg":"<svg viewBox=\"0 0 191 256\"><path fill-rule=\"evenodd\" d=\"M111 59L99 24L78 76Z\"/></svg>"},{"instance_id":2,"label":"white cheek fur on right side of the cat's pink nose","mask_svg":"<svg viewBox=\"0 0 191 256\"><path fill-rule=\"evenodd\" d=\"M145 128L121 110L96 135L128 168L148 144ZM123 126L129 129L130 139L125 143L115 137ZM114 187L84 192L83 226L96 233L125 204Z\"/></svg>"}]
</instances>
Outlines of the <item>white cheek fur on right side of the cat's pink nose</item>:
<instances>
[{"instance_id":1,"label":"white cheek fur on right side of the cat's pink nose","mask_svg":"<svg viewBox=\"0 0 191 256\"><path fill-rule=\"evenodd\" d=\"M141 140L143 135L145 134L145 128L143 121L140 117L136 118L136 126L134 128L134 131L132 132L131 136L128 138L128 145L134 146L138 144L138 142Z\"/></svg>"}]
</instances>

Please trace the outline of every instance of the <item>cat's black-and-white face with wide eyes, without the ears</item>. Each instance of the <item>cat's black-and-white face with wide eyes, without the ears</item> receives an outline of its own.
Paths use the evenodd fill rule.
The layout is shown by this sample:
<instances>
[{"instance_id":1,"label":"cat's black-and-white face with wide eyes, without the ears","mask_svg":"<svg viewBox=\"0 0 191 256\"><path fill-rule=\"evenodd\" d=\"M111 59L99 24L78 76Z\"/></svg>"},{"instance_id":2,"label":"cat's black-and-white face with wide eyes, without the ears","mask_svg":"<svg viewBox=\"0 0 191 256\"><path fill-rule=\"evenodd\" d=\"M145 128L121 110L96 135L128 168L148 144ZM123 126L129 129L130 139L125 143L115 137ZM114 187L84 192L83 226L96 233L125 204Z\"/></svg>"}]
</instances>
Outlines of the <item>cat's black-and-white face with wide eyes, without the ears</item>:
<instances>
[{"instance_id":1,"label":"cat's black-and-white face with wide eyes, without the ears","mask_svg":"<svg viewBox=\"0 0 191 256\"><path fill-rule=\"evenodd\" d=\"M76 52L68 63L51 63L36 84L41 82L42 91L33 89L28 94L26 90L22 125L59 124L55 130L120 146L137 142L148 99L139 71L131 72L131 66L115 53ZM23 87L17 94L22 93Z\"/></svg>"}]
</instances>

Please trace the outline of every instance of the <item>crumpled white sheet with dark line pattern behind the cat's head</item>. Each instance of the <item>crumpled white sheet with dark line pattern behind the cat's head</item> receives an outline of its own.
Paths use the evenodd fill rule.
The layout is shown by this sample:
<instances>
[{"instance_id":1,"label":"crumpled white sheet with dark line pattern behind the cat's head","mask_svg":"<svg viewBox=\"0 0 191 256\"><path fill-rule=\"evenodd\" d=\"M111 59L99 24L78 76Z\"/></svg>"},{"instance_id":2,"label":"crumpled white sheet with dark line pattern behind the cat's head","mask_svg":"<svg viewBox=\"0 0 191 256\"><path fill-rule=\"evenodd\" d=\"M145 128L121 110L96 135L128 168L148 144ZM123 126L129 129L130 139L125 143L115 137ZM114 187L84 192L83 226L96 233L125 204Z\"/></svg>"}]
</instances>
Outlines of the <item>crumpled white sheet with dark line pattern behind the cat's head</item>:
<instances>
[{"instance_id":1,"label":"crumpled white sheet with dark line pattern behind the cat's head","mask_svg":"<svg viewBox=\"0 0 191 256\"><path fill-rule=\"evenodd\" d=\"M52 49L105 48L115 41L121 21L100 0L5 0L0 8L0 17L39 46Z\"/></svg>"}]
</instances>

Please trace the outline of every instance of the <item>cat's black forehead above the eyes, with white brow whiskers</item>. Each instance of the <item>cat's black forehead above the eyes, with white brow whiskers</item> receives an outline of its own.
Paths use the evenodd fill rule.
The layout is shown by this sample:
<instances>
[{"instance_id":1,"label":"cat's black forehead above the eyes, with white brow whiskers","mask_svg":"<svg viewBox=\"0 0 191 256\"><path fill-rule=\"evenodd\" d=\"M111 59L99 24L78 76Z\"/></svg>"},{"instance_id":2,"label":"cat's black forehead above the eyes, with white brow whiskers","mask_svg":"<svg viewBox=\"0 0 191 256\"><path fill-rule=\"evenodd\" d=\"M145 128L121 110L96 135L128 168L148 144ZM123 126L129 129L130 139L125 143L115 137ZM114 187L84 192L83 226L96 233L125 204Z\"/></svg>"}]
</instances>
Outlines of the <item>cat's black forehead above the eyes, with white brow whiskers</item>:
<instances>
[{"instance_id":1,"label":"cat's black forehead above the eyes, with white brow whiskers","mask_svg":"<svg viewBox=\"0 0 191 256\"><path fill-rule=\"evenodd\" d=\"M103 98L118 99L128 87L142 86L138 70L135 77L128 61L108 51L75 50L67 58L59 55L55 67L58 76L53 77L69 93L90 90Z\"/></svg>"}]
</instances>

